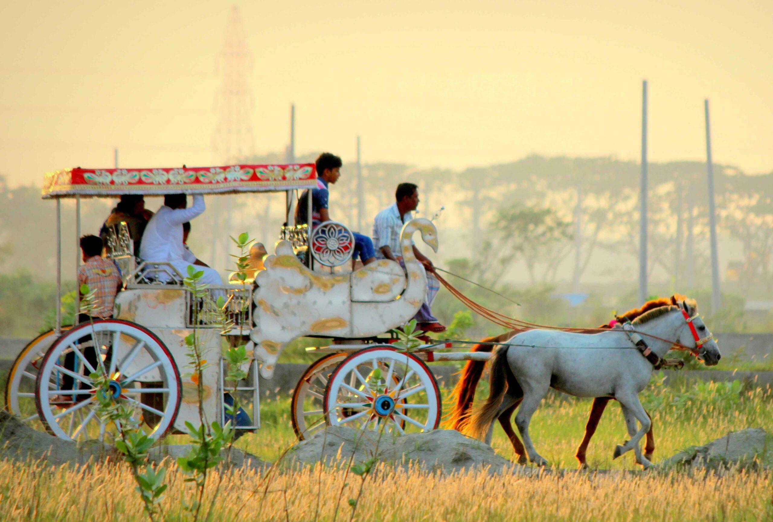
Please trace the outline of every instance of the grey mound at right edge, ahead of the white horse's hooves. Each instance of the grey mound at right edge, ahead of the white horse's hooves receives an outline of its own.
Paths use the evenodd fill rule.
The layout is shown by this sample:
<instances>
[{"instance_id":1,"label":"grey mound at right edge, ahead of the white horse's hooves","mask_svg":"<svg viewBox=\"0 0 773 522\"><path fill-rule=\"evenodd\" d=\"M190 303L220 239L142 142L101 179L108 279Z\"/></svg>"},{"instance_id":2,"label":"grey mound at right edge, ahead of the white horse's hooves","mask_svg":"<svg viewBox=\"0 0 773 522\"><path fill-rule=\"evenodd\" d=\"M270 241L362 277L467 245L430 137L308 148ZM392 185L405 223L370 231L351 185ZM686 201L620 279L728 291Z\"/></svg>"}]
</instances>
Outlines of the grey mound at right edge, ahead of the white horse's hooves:
<instances>
[{"instance_id":1,"label":"grey mound at right edge, ahead of the white horse's hooves","mask_svg":"<svg viewBox=\"0 0 773 522\"><path fill-rule=\"evenodd\" d=\"M703 446L690 446L661 462L661 466L691 466L717 469L733 464L746 465L765 449L767 433L761 428L730 432Z\"/></svg>"}]
</instances>

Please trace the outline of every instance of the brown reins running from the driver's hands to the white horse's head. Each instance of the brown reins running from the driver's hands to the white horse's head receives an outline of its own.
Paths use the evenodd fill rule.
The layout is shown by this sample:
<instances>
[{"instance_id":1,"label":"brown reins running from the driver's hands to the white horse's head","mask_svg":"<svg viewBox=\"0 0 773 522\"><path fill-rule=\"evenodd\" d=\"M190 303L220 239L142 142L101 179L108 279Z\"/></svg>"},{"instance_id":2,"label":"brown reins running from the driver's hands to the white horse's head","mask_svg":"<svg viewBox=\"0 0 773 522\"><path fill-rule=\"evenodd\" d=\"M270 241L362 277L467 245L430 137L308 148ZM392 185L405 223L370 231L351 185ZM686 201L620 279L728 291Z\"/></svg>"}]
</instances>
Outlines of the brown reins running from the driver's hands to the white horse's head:
<instances>
[{"instance_id":1,"label":"brown reins running from the driver's hands to the white horse's head","mask_svg":"<svg viewBox=\"0 0 773 522\"><path fill-rule=\"evenodd\" d=\"M440 270L440 269L438 269ZM442 270L446 272L447 274L451 274L451 272L447 270ZM451 274L455 275L455 274ZM567 333L603 333L603 332L609 332L611 329L608 328L570 328L566 326L550 326L550 325L541 325L536 322L529 322L529 321L523 321L522 319L516 319L514 317L505 316L502 313L496 312L495 310L486 308L485 306L481 305L478 302L473 301L472 299L468 298L466 295L461 293L458 288L455 288L454 285L451 285L448 281L446 281L440 274L435 272L434 276L438 278L438 281L441 282L441 284L448 290L448 292L451 292L452 295L459 301L461 301L462 304L467 306L469 309L471 309L473 312L478 313L479 316L484 317L485 319L489 319L489 321L493 322L494 324L497 324L499 326L504 326L507 329L516 330L519 332L525 332L526 330L531 329L547 329L547 330L557 330L559 332L567 332ZM456 276L456 275L455 275ZM458 277L458 276L456 276ZM465 280L466 281L466 280ZM470 281L472 282L472 281ZM477 283L474 283L475 285L478 285ZM478 285L481 286L481 285ZM481 286L481 288L485 288ZM485 288L486 290L489 290L489 288ZM493 292L493 291L491 291ZM494 292L495 294L497 292ZM497 294L499 295L499 294ZM507 299L510 301L510 299ZM511 301L512 302L512 301ZM703 347L703 343L706 343L709 339L712 338L712 335L709 334L706 337L703 337L701 339L698 336L697 330L695 328L695 325L693 325L693 320L698 317L698 314L695 316L690 317L687 312L684 309L681 309L683 316L687 322L688 325L690 325L690 332L693 333L693 338L696 341L696 346L685 346L682 343L676 343L670 339L663 339L662 337L652 335L652 333L646 333L646 332L640 332L638 330L627 330L629 333L638 333L640 336L648 336L651 339L657 339L659 341L663 341L664 343L671 343L671 348L673 350L685 350L692 352L693 354L698 353L698 351Z\"/></svg>"}]
</instances>

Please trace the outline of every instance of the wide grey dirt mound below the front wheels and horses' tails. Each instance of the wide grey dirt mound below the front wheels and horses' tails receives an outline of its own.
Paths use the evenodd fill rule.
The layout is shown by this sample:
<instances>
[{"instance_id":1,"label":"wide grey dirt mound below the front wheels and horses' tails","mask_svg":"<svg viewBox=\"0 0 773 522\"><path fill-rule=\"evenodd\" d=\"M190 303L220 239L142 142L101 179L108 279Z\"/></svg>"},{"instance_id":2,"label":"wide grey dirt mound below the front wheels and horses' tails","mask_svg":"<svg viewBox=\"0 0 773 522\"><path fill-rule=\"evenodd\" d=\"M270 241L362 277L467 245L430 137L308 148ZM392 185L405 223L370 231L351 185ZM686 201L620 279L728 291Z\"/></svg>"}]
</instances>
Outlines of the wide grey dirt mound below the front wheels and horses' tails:
<instances>
[{"instance_id":1,"label":"wide grey dirt mound below the front wheels and horses' tails","mask_svg":"<svg viewBox=\"0 0 773 522\"><path fill-rule=\"evenodd\" d=\"M452 473L471 468L489 467L491 473L523 471L496 455L491 446L465 437L455 430L434 430L393 437L378 432L360 432L343 426L331 426L299 442L288 452L284 466L325 462L346 465L354 453L354 463L376 457L395 466L418 466L426 471Z\"/></svg>"}]
</instances>

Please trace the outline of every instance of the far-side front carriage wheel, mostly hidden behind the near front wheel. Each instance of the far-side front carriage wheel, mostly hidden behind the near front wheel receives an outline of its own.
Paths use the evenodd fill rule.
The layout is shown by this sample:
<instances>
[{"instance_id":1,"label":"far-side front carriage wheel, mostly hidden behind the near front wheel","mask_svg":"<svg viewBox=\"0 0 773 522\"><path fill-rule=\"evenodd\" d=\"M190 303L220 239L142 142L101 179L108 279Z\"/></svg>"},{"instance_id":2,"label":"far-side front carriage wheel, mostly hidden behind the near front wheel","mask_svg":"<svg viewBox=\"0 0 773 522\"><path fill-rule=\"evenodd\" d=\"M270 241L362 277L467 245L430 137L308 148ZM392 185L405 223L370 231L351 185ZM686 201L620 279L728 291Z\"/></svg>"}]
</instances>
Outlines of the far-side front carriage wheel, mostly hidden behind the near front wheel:
<instances>
[{"instance_id":1,"label":"far-side front carriage wheel, mostly hidden behind the near front wheel","mask_svg":"<svg viewBox=\"0 0 773 522\"><path fill-rule=\"evenodd\" d=\"M330 374L346 359L346 353L329 353L310 364L292 394L292 428L298 440L309 438L325 425L322 401Z\"/></svg>"}]
</instances>

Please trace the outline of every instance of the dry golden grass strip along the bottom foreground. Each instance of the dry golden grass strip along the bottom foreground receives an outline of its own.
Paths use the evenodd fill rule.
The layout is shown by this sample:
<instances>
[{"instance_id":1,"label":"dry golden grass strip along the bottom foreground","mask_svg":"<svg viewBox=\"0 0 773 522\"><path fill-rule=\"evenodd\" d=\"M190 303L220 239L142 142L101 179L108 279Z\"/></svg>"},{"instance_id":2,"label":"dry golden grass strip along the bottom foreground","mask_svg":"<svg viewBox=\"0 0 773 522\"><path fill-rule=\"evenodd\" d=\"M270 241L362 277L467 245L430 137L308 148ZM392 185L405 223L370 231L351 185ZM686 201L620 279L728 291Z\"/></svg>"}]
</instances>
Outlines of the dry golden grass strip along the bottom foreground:
<instances>
[{"instance_id":1,"label":"dry golden grass strip along the bottom foreground","mask_svg":"<svg viewBox=\"0 0 773 522\"><path fill-rule=\"evenodd\" d=\"M171 466L165 520L189 518L183 478ZM217 478L209 482L207 506ZM333 520L343 480L331 469L284 472L264 497L267 482L259 474L226 474L212 520ZM338 520L351 517L348 500L359 488L358 476L347 480ZM355 520L771 520L771 491L769 472L440 477L389 469L367 479ZM9 462L0 463L0 518L147 520L125 466L77 472Z\"/></svg>"}]
</instances>

